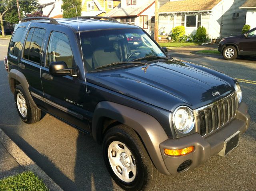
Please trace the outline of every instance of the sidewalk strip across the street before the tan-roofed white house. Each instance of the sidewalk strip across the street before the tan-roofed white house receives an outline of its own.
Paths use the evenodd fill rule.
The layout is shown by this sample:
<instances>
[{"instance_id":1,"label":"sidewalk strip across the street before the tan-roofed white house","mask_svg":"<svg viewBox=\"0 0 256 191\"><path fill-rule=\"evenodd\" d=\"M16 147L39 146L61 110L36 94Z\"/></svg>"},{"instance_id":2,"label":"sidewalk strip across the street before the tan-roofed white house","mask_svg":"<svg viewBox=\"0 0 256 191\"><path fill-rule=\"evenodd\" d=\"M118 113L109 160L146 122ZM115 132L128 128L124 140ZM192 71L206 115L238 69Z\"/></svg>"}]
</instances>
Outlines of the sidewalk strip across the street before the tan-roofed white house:
<instances>
[{"instance_id":1,"label":"sidewalk strip across the street before the tan-roofed white house","mask_svg":"<svg viewBox=\"0 0 256 191\"><path fill-rule=\"evenodd\" d=\"M218 48L218 44L207 44L207 45L198 45L198 46L168 47L168 50L173 53L189 54L191 52L195 52L199 50L209 50L209 49L217 49L217 48Z\"/></svg>"}]
</instances>

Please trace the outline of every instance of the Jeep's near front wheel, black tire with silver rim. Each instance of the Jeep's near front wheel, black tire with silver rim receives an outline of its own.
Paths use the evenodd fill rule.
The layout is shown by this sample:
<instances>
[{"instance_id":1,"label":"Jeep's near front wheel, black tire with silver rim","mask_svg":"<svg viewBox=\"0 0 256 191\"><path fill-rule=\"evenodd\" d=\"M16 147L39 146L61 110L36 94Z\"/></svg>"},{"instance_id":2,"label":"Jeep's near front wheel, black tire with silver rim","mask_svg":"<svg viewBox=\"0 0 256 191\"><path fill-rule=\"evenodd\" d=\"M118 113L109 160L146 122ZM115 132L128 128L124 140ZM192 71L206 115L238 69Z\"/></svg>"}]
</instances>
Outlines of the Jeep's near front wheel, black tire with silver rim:
<instances>
[{"instance_id":1,"label":"Jeep's near front wheel, black tire with silver rim","mask_svg":"<svg viewBox=\"0 0 256 191\"><path fill-rule=\"evenodd\" d=\"M124 190L148 190L158 178L159 172L140 138L126 125L114 126L106 132L103 156L108 172Z\"/></svg>"}]
</instances>

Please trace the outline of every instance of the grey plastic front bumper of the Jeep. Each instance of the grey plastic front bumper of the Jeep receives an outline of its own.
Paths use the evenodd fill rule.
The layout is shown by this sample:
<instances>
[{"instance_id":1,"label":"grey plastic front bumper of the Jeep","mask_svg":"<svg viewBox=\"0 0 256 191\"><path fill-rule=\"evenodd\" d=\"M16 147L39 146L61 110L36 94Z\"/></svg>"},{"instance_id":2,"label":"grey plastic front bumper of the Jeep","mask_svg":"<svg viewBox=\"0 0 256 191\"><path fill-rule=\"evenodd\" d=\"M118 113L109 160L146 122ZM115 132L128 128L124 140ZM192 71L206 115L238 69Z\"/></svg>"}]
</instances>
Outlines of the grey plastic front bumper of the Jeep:
<instances>
[{"instance_id":1,"label":"grey plastic front bumper of the Jeep","mask_svg":"<svg viewBox=\"0 0 256 191\"><path fill-rule=\"evenodd\" d=\"M167 139L160 143L160 151L164 164L166 165L166 169L170 174L176 175L199 166L209 157L218 154L223 149L224 141L228 137L237 131L244 133L244 131L248 129L249 123L250 115L247 113L247 105L245 103L240 103L236 113L236 118L209 137L203 138L198 133L194 133L179 139ZM186 155L169 156L164 153L165 148L183 149L189 146L194 146L195 149L192 153ZM187 160L192 161L191 165L185 170L178 172L177 169L180 164Z\"/></svg>"}]
</instances>

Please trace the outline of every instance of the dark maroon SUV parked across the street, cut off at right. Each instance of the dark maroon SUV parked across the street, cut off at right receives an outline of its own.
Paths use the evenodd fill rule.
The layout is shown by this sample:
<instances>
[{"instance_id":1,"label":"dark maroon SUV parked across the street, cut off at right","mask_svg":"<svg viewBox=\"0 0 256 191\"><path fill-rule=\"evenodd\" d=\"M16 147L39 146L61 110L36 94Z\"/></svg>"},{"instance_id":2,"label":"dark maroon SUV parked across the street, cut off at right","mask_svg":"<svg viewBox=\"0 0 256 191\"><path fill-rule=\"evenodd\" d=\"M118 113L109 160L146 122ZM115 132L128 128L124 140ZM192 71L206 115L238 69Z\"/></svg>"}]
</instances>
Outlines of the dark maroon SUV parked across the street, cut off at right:
<instances>
[{"instance_id":1,"label":"dark maroon SUV parked across the street, cut off at right","mask_svg":"<svg viewBox=\"0 0 256 191\"><path fill-rule=\"evenodd\" d=\"M256 56L256 28L243 35L222 38L218 51L226 60L234 60L238 55Z\"/></svg>"}]
</instances>

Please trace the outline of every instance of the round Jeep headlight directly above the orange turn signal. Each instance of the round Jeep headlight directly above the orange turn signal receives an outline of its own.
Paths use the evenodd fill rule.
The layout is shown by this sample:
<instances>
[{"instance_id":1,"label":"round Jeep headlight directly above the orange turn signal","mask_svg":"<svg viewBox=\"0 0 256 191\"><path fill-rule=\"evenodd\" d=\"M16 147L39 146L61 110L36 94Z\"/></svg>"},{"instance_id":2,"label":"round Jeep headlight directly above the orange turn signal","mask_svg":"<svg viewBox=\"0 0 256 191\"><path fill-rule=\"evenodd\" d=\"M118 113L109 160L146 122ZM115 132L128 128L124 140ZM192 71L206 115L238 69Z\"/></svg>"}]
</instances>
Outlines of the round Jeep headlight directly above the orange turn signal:
<instances>
[{"instance_id":1,"label":"round Jeep headlight directly above the orange turn signal","mask_svg":"<svg viewBox=\"0 0 256 191\"><path fill-rule=\"evenodd\" d=\"M172 117L172 122L174 127L181 133L189 133L195 124L192 110L186 106L176 108Z\"/></svg>"}]
</instances>

